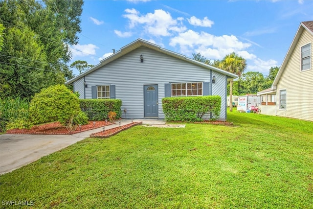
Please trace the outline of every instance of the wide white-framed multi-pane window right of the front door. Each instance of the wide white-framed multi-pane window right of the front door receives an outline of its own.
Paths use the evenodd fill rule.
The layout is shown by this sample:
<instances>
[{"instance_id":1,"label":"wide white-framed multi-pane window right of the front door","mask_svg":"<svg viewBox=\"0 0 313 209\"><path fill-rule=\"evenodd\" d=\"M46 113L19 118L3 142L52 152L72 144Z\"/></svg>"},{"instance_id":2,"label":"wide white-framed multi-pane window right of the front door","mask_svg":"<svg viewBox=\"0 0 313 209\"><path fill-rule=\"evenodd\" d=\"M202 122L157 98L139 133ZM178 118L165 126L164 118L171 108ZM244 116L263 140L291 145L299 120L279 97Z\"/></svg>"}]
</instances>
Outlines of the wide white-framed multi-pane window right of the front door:
<instances>
[{"instance_id":1,"label":"wide white-framed multi-pane window right of the front door","mask_svg":"<svg viewBox=\"0 0 313 209\"><path fill-rule=\"evenodd\" d=\"M202 82L172 83L172 96L202 96Z\"/></svg>"}]
</instances>

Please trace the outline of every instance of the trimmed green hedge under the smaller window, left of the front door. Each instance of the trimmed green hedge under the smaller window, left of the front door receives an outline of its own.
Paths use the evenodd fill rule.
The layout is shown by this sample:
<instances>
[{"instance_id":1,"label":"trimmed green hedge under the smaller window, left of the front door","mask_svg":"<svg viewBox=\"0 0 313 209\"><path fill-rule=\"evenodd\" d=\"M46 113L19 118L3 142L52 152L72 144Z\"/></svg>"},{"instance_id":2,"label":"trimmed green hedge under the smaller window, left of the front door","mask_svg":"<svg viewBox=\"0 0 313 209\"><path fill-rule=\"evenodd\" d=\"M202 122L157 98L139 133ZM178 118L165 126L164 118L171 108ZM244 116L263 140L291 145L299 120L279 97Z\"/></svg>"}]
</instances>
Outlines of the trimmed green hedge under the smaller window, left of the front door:
<instances>
[{"instance_id":1,"label":"trimmed green hedge under the smaller window, left of the front door","mask_svg":"<svg viewBox=\"0 0 313 209\"><path fill-rule=\"evenodd\" d=\"M85 112L89 120L109 119L108 113L115 112L116 119L122 115L120 99L80 99L80 108Z\"/></svg>"}]
</instances>

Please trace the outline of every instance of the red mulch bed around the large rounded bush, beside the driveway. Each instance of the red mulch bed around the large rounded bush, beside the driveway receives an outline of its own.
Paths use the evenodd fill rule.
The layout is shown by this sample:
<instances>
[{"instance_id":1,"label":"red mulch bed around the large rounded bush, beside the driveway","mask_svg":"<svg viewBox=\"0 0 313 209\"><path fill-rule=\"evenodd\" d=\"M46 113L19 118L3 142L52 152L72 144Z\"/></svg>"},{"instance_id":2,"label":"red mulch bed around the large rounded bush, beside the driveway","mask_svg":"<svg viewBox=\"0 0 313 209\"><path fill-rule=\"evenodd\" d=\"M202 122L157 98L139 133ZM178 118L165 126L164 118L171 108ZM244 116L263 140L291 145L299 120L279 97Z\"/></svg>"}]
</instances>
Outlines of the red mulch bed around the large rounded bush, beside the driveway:
<instances>
[{"instance_id":1,"label":"red mulch bed around the large rounded bush, beside the driveway","mask_svg":"<svg viewBox=\"0 0 313 209\"><path fill-rule=\"evenodd\" d=\"M102 126L112 125L112 122L96 121L93 127L93 121L89 121L88 124L82 125L81 129L77 127L75 131L69 133L66 126L62 126L60 122L45 123L41 125L34 125L31 129L11 129L7 134L55 134L55 135L72 135L82 131L88 131Z\"/></svg>"}]
</instances>

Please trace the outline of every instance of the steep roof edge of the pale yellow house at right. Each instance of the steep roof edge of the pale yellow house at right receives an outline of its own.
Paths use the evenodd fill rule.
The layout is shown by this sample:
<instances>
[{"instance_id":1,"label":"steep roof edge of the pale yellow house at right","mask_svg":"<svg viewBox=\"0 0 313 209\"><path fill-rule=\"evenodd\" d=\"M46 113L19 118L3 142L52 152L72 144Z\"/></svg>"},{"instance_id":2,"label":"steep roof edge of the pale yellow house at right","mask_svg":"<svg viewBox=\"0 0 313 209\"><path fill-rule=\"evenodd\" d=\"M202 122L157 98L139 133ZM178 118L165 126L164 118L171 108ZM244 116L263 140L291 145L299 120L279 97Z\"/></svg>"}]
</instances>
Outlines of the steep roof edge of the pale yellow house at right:
<instances>
[{"instance_id":1,"label":"steep roof edge of the pale yellow house at right","mask_svg":"<svg viewBox=\"0 0 313 209\"><path fill-rule=\"evenodd\" d=\"M282 75L282 73L283 73L283 71L284 71L284 69L285 69L285 67L287 65L288 60L290 59L291 53L292 53L294 47L296 46L296 44L297 44L297 42L298 42L298 40L299 40L303 30L307 30L309 33L311 33L313 35L313 21L306 21L306 22L301 22L300 23L300 26L299 26L299 28L298 28L298 30L297 30L297 32L296 32L292 42L291 42L291 46L288 49L288 52L287 52L287 54L285 56L285 59L284 59L282 65L281 65L281 67L279 68L279 70L277 72L277 75L276 75L276 77L274 79L274 82L273 82L272 87L271 87L272 90L276 90L278 81L279 81L279 79L280 79L280 77L281 77L281 75Z\"/></svg>"}]
</instances>

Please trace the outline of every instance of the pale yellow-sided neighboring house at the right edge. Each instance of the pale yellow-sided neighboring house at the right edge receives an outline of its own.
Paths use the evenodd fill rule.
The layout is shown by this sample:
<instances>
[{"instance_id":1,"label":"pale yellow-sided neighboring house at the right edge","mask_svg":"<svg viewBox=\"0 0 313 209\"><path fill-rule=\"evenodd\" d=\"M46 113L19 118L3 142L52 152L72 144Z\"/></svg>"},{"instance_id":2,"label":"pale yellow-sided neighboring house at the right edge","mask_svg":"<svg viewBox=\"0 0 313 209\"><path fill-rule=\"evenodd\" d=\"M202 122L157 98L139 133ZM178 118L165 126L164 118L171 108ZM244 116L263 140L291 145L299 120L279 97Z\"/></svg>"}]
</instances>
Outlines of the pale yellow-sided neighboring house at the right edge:
<instances>
[{"instance_id":1,"label":"pale yellow-sided neighboring house at the right edge","mask_svg":"<svg viewBox=\"0 0 313 209\"><path fill-rule=\"evenodd\" d=\"M271 88L261 95L261 113L313 121L313 21L302 22Z\"/></svg>"}]
</instances>

